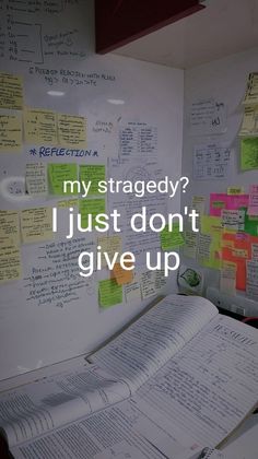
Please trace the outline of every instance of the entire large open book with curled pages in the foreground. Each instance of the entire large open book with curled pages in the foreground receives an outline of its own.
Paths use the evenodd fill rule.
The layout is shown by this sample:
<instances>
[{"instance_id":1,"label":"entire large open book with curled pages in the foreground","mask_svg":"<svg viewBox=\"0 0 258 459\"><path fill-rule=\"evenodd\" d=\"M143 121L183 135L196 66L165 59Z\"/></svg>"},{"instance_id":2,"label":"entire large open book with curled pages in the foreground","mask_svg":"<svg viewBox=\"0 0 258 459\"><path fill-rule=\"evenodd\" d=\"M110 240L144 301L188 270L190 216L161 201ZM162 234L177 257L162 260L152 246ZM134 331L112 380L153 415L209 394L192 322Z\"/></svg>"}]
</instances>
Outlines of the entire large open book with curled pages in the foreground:
<instances>
[{"instance_id":1,"label":"entire large open book with curled pages in the foreground","mask_svg":"<svg viewBox=\"0 0 258 459\"><path fill-rule=\"evenodd\" d=\"M0 425L15 458L183 459L257 401L258 331L169 295L85 365L0 395Z\"/></svg>"}]
</instances>

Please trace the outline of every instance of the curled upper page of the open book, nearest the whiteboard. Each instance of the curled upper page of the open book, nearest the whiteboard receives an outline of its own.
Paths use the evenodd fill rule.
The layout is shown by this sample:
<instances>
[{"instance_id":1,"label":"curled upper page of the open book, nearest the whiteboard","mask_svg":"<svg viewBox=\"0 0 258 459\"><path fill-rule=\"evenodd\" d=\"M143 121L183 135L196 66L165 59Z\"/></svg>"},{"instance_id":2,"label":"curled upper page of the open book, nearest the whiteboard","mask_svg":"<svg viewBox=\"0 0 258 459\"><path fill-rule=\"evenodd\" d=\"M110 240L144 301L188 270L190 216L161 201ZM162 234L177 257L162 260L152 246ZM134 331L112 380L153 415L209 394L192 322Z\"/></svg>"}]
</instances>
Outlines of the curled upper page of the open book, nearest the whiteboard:
<instances>
[{"instance_id":1,"label":"curled upper page of the open book, nearest the whiteboard","mask_svg":"<svg viewBox=\"0 0 258 459\"><path fill-rule=\"evenodd\" d=\"M127 380L134 391L216 314L215 306L204 298L169 295L91 361Z\"/></svg>"}]
</instances>

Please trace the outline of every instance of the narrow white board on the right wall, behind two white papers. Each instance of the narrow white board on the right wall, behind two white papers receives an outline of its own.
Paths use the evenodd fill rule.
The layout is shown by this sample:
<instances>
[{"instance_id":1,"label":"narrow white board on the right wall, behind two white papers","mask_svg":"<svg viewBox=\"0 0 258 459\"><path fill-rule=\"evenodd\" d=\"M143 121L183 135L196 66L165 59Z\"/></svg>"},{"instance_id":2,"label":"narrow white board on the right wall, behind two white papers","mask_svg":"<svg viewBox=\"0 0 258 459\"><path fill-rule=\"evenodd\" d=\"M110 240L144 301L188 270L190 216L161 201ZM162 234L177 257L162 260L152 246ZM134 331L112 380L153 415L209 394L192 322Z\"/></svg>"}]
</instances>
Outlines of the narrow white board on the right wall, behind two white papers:
<instances>
[{"instance_id":1,"label":"narrow white board on the right wall, behind two white papers","mask_svg":"<svg viewBox=\"0 0 258 459\"><path fill-rule=\"evenodd\" d=\"M258 48L228 56L185 72L185 107L184 107L184 151L183 172L190 181L188 193L184 195L181 205L190 205L192 196L206 198L206 214L209 214L209 202L211 192L227 192L227 187L243 187L249 192L249 186L257 184L256 170L241 170L241 140L238 131L242 126L244 107L242 102L245 97L248 74L257 71ZM191 104L197 101L213 98L224 103L226 107L226 129L224 132L213 136L192 136L189 128L189 114ZM192 153L196 145L202 143L219 142L232 149L233 162L228 175L224 179L197 180L194 178ZM198 264L190 258L185 258L185 263L197 268ZM220 289L220 270L203 269L204 290L209 287ZM244 292L237 291L239 297L245 297ZM234 303L234 301L232 302ZM237 302L238 305L244 303Z\"/></svg>"}]
</instances>

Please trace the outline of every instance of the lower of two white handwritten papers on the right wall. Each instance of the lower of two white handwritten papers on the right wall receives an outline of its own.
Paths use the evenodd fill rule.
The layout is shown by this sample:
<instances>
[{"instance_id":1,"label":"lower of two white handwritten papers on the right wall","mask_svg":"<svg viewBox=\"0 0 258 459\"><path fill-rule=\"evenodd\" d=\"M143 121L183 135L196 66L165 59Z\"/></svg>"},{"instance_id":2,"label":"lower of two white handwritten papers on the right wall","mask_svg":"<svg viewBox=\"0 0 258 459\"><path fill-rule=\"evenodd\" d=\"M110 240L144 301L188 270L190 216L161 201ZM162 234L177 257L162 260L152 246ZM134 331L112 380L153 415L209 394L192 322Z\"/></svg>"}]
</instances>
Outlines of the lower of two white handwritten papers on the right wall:
<instances>
[{"instance_id":1,"label":"lower of two white handwritten papers on the right wall","mask_svg":"<svg viewBox=\"0 0 258 459\"><path fill-rule=\"evenodd\" d=\"M231 156L230 148L216 143L195 146L194 178L197 180L226 178L228 176Z\"/></svg>"}]
</instances>

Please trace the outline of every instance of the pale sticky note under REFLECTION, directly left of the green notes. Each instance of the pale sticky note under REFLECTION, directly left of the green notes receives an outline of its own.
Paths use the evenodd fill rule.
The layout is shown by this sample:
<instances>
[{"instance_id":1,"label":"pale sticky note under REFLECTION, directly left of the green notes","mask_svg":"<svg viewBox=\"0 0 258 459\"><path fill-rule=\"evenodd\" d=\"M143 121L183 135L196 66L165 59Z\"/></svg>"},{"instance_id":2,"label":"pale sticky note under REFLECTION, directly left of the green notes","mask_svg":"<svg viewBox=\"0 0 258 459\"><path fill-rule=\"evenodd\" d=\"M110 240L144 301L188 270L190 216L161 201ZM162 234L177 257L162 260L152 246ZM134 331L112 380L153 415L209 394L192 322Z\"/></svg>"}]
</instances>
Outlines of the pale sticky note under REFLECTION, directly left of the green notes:
<instances>
[{"instance_id":1,"label":"pale sticky note under REFLECTION, directly left of the green notes","mask_svg":"<svg viewBox=\"0 0 258 459\"><path fill-rule=\"evenodd\" d=\"M43 163L26 164L26 191L31 196L44 196L48 192L47 168Z\"/></svg>"}]
</instances>

